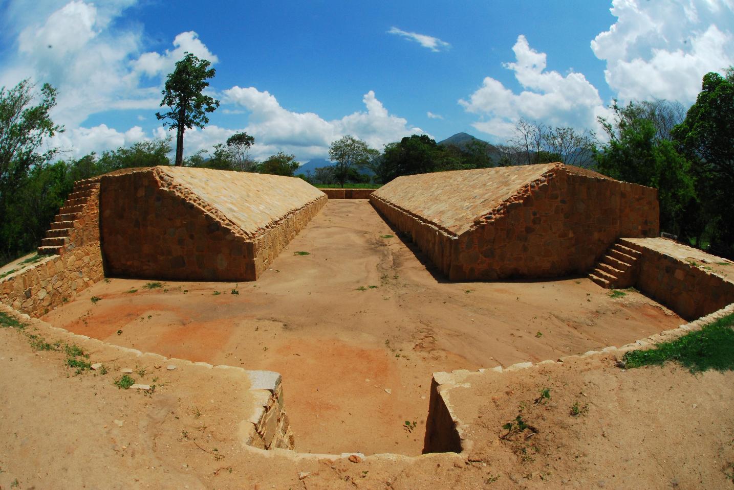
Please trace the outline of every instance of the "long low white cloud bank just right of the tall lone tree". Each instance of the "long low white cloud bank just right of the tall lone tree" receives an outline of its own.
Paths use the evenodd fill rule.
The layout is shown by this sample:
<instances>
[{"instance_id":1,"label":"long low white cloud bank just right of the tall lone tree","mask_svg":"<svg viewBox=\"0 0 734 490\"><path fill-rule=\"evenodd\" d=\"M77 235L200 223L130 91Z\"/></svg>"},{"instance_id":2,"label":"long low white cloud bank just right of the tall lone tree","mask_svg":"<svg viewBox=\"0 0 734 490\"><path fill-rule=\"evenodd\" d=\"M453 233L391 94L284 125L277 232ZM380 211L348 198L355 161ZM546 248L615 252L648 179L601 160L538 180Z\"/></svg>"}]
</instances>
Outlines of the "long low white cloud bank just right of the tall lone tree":
<instances>
[{"instance_id":1,"label":"long low white cloud bank just right of the tall lone tree","mask_svg":"<svg viewBox=\"0 0 734 490\"><path fill-rule=\"evenodd\" d=\"M333 141L347 134L379 149L403 136L423 133L421 128L408 125L406 119L389 114L373 91L362 99L366 111L357 111L333 121L322 119L313 112L288 111L274 95L255 87L233 86L224 94L226 103L249 111L244 130L255 136L256 144L252 148L255 157L267 156L274 149L294 153L300 159L321 157L327 154Z\"/></svg>"}]
</instances>

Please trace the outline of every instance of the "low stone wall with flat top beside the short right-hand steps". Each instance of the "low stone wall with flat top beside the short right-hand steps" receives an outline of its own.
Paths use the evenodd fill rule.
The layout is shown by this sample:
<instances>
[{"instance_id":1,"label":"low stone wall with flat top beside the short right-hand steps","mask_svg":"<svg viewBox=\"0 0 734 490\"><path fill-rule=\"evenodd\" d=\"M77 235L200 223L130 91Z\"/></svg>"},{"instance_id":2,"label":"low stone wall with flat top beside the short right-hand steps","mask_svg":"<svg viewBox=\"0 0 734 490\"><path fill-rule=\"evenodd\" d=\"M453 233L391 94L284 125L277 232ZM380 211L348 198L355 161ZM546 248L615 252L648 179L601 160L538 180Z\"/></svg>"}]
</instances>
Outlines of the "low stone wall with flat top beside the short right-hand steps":
<instances>
[{"instance_id":1,"label":"low stone wall with flat top beside the short right-hand steps","mask_svg":"<svg viewBox=\"0 0 734 490\"><path fill-rule=\"evenodd\" d=\"M660 242L662 239L658 239ZM680 256L673 256L664 250L655 250L654 242L646 240L620 240L623 245L642 253L639 259L639 272L634 283L636 289L666 305L684 319L697 319L718 311L734 302L734 282L722 275L706 270L705 263L688 259L690 254L701 254L686 245L676 244ZM688 250L686 250L688 249ZM712 261L718 257L711 256ZM722 260L722 259L719 259ZM703 266L703 267L701 267Z\"/></svg>"}]
</instances>

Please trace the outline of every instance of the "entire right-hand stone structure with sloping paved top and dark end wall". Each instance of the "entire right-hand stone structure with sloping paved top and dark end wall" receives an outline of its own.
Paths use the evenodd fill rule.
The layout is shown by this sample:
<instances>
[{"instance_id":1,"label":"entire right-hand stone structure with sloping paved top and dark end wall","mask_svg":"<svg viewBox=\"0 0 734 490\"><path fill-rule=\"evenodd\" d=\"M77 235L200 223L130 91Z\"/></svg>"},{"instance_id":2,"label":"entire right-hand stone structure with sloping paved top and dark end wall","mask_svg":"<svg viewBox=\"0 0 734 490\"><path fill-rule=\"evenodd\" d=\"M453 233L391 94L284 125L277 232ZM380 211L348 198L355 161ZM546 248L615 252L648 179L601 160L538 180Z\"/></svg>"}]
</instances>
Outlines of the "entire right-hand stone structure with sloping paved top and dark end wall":
<instances>
[{"instance_id":1,"label":"entire right-hand stone structure with sloping paved top and dark end wall","mask_svg":"<svg viewBox=\"0 0 734 490\"><path fill-rule=\"evenodd\" d=\"M619 237L658 235L657 190L562 163L398 177L373 206L451 281L581 274Z\"/></svg>"}]
</instances>

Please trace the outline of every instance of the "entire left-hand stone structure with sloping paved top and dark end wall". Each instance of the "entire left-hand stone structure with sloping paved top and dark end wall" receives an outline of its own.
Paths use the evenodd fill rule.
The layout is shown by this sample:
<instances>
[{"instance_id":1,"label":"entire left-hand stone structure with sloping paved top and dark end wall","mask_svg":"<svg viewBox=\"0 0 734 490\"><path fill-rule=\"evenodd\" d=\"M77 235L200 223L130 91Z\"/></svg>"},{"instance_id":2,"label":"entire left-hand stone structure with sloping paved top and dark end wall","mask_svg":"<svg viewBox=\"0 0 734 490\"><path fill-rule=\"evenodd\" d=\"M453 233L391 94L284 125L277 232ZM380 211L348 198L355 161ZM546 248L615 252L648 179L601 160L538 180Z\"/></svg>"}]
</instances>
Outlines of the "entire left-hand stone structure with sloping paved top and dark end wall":
<instances>
[{"instance_id":1,"label":"entire left-hand stone structure with sloping paved top and dark end wall","mask_svg":"<svg viewBox=\"0 0 734 490\"><path fill-rule=\"evenodd\" d=\"M254 281L326 204L302 179L153 167L101 177L106 274Z\"/></svg>"}]
</instances>

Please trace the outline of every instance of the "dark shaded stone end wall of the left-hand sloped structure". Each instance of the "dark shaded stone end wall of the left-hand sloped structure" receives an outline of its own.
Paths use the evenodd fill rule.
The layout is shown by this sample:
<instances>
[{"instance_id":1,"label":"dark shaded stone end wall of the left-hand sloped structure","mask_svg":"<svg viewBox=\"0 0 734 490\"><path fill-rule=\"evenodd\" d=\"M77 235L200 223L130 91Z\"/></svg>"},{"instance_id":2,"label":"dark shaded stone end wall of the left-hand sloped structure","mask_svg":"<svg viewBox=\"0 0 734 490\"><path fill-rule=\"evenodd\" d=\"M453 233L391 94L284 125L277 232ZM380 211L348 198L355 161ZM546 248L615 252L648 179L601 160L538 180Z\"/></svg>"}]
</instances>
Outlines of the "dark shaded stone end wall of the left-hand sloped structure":
<instances>
[{"instance_id":1,"label":"dark shaded stone end wall of the left-hand sloped structure","mask_svg":"<svg viewBox=\"0 0 734 490\"><path fill-rule=\"evenodd\" d=\"M153 170L103 176L101 235L107 275L255 279L252 242L161 186Z\"/></svg>"}]
</instances>

